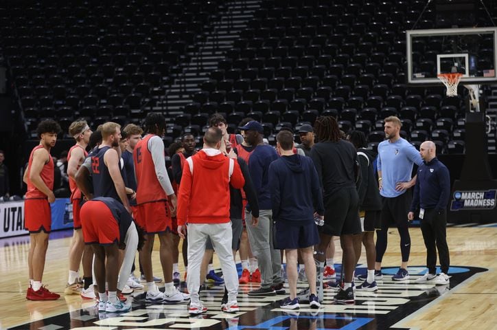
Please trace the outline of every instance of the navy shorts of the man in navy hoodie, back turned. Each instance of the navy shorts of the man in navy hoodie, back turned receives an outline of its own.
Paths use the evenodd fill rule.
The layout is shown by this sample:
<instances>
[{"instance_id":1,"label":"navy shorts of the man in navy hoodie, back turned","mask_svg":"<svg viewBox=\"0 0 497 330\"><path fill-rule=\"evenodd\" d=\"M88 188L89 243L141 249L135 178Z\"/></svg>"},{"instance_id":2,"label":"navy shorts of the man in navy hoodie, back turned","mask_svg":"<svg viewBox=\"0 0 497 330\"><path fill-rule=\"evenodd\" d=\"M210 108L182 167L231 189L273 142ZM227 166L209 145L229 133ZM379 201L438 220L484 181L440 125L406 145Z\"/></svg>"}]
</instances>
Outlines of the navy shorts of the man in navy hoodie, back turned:
<instances>
[{"instance_id":1,"label":"navy shorts of the man in navy hoodie, back turned","mask_svg":"<svg viewBox=\"0 0 497 330\"><path fill-rule=\"evenodd\" d=\"M319 232L314 221L275 221L273 241L275 249L301 249L319 243Z\"/></svg>"}]
</instances>

